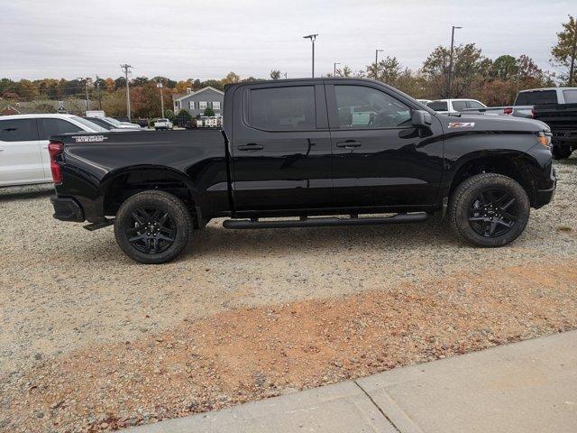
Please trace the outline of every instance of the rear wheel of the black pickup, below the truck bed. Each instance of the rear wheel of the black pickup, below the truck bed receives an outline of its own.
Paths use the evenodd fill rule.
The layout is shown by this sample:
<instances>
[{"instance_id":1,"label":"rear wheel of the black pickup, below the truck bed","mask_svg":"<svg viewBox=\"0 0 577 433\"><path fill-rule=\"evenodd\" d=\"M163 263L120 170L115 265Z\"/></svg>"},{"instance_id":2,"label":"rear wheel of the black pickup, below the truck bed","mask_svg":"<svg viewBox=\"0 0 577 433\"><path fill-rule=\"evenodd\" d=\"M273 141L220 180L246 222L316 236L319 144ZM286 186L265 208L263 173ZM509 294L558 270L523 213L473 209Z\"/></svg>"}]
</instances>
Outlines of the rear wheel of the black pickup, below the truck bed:
<instances>
[{"instance_id":1,"label":"rear wheel of the black pickup, below the truck bed","mask_svg":"<svg viewBox=\"0 0 577 433\"><path fill-rule=\"evenodd\" d=\"M124 201L114 219L116 242L135 262L159 264L175 259L192 232L188 208L168 192L150 190Z\"/></svg>"}]
</instances>

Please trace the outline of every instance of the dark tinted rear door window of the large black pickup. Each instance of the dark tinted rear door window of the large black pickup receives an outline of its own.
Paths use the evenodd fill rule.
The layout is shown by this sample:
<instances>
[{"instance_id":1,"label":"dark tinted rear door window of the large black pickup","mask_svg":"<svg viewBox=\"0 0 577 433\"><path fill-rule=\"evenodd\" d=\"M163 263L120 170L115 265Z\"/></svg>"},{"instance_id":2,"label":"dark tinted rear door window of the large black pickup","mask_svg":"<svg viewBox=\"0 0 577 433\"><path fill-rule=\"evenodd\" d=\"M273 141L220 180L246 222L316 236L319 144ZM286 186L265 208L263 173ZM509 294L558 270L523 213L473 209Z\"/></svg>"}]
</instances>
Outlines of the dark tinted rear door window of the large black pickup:
<instances>
[{"instance_id":1,"label":"dark tinted rear door window of the large black pickup","mask_svg":"<svg viewBox=\"0 0 577 433\"><path fill-rule=\"evenodd\" d=\"M255 88L251 90L250 123L268 131L316 128L315 88Z\"/></svg>"}]
</instances>

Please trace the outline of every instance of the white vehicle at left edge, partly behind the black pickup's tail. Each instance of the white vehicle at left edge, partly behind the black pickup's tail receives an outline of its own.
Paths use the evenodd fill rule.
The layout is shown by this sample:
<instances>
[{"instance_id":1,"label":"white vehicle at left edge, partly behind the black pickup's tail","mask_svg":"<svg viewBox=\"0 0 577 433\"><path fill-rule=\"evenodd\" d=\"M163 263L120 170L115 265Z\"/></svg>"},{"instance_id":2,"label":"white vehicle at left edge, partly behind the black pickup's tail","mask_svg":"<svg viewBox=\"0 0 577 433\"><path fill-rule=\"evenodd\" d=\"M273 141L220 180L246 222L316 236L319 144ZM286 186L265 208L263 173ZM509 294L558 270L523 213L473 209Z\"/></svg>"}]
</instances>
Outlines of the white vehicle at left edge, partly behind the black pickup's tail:
<instances>
[{"instance_id":1,"label":"white vehicle at left edge, partly behind the black pickup's tail","mask_svg":"<svg viewBox=\"0 0 577 433\"><path fill-rule=\"evenodd\" d=\"M0 186L52 181L50 135L105 131L77 115L0 116Z\"/></svg>"}]
</instances>

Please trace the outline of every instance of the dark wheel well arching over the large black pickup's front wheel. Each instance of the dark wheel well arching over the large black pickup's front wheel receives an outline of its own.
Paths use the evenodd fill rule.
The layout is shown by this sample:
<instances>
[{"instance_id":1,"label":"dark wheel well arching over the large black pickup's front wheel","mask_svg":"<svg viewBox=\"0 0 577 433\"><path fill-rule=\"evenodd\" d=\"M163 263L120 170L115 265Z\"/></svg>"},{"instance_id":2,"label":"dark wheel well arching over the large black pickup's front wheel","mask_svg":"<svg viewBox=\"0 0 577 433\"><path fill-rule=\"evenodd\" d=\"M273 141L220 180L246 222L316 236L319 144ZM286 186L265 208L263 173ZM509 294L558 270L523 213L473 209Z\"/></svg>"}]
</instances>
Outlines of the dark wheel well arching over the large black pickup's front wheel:
<instances>
[{"instance_id":1,"label":"dark wheel well arching over the large black pickup's front wheel","mask_svg":"<svg viewBox=\"0 0 577 433\"><path fill-rule=\"evenodd\" d=\"M476 174L499 173L512 180L516 180L525 189L529 200L533 202L533 188L528 180L529 175L525 163L520 163L515 156L490 156L475 158L465 162L453 176L449 196L453 195L453 190L463 182Z\"/></svg>"}]
</instances>

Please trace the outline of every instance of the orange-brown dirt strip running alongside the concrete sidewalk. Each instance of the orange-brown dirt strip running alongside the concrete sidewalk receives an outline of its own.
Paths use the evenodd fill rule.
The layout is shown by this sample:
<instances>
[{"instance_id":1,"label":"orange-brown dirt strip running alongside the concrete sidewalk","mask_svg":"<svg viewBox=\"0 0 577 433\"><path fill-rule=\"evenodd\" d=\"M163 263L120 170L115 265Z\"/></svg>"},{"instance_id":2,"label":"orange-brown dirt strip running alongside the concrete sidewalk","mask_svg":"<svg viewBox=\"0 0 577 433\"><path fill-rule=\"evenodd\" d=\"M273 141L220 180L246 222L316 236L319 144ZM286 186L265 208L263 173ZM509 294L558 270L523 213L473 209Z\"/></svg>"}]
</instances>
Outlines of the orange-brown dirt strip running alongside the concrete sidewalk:
<instances>
[{"instance_id":1,"label":"orange-brown dirt strip running alongside the concrete sidewalk","mask_svg":"<svg viewBox=\"0 0 577 433\"><path fill-rule=\"evenodd\" d=\"M545 336L577 327L576 283L571 261L527 263L188 318L3 378L0 422L120 428Z\"/></svg>"}]
</instances>

